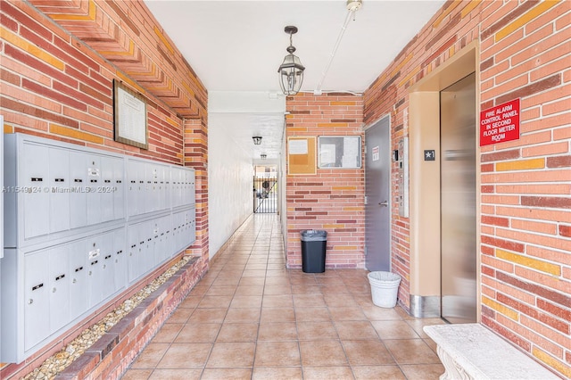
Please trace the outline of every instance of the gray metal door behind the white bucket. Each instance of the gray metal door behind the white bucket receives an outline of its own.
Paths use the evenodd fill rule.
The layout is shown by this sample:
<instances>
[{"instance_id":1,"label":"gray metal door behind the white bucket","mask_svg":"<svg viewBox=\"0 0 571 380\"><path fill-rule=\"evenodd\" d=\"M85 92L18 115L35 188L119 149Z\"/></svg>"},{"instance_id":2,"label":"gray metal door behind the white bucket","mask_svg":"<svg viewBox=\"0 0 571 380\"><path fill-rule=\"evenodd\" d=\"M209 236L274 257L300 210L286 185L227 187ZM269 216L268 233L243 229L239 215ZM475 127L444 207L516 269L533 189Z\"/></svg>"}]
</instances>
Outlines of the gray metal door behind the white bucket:
<instances>
[{"instance_id":1,"label":"gray metal door behind the white bucket","mask_svg":"<svg viewBox=\"0 0 571 380\"><path fill-rule=\"evenodd\" d=\"M390 129L386 116L365 132L365 265L371 271L391 268Z\"/></svg>"}]
</instances>

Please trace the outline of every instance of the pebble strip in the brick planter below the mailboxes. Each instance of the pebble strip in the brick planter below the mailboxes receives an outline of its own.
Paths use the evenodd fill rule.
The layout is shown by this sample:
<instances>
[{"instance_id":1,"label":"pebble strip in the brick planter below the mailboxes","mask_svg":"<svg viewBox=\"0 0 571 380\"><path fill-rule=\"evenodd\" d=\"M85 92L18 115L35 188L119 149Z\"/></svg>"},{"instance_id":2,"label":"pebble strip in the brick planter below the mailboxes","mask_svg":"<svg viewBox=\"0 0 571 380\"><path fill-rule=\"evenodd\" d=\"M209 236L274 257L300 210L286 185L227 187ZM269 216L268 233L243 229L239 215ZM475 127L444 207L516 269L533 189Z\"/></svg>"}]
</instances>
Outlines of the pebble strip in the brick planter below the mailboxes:
<instances>
[{"instance_id":1,"label":"pebble strip in the brick planter below the mailboxes","mask_svg":"<svg viewBox=\"0 0 571 380\"><path fill-rule=\"evenodd\" d=\"M87 328L81 335L64 347L62 351L55 353L52 357L46 359L39 368L34 369L27 376L24 376L24 380L54 379L55 376L68 368L71 363L76 359L79 359L79 357L94 345L95 342L97 342L103 335L108 333L112 326L117 325L122 318L126 317L129 312L137 308L137 306L141 304L141 302L143 302L151 293L156 291L192 259L193 258L190 256L183 257L175 265L163 272L161 276L155 278L143 289L135 293L125 302L121 303L118 308L108 313L101 321Z\"/></svg>"}]
</instances>

